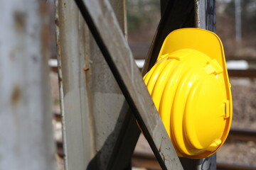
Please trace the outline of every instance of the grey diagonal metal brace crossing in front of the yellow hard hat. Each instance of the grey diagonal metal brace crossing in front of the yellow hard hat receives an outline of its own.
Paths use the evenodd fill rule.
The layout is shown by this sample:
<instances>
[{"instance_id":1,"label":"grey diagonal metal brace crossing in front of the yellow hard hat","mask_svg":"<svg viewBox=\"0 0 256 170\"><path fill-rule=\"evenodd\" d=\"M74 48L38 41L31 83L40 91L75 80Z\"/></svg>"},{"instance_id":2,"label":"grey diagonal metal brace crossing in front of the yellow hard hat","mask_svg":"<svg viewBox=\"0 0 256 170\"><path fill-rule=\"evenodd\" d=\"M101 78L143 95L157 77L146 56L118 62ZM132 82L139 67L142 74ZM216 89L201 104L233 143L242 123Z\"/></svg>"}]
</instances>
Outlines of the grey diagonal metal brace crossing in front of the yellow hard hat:
<instances>
[{"instance_id":1,"label":"grey diagonal metal brace crossing in front of the yellow hard hat","mask_svg":"<svg viewBox=\"0 0 256 170\"><path fill-rule=\"evenodd\" d=\"M162 169L183 169L107 0L75 0Z\"/></svg>"}]
</instances>

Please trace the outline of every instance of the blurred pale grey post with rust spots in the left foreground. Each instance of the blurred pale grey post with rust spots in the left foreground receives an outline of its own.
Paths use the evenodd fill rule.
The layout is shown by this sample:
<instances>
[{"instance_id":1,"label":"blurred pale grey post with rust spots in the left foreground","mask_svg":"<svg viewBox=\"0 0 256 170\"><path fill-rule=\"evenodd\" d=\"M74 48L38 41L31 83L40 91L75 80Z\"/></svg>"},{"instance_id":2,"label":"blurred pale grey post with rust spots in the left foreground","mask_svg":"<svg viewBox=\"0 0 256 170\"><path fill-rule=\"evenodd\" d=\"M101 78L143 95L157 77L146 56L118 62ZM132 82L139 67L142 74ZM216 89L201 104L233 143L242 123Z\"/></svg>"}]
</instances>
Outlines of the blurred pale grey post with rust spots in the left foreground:
<instances>
[{"instance_id":1,"label":"blurred pale grey post with rust spots in the left foreground","mask_svg":"<svg viewBox=\"0 0 256 170\"><path fill-rule=\"evenodd\" d=\"M45 1L0 5L0 169L55 169Z\"/></svg>"}]
</instances>

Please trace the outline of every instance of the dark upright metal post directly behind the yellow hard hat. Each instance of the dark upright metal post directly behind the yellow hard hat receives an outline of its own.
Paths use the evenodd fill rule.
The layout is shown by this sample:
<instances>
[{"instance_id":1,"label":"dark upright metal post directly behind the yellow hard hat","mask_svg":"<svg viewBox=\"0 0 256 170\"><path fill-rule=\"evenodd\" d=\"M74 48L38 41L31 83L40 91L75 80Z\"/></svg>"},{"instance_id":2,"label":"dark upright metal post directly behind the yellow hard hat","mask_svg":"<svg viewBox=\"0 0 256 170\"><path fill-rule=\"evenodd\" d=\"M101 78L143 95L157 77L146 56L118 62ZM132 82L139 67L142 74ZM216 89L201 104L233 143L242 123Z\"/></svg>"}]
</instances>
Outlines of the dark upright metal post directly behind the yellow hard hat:
<instances>
[{"instance_id":1,"label":"dark upright metal post directly behind the yellow hard hat","mask_svg":"<svg viewBox=\"0 0 256 170\"><path fill-rule=\"evenodd\" d=\"M176 7L176 10L174 9ZM171 13L171 11L176 11ZM181 11L178 13L178 11ZM154 42L151 57L157 57L166 35L174 28L196 27L215 32L215 0L175 1L161 0L161 22L159 33L156 34L158 42ZM159 44L159 45L157 45ZM180 158L184 169L215 170L216 154L206 159Z\"/></svg>"}]
</instances>

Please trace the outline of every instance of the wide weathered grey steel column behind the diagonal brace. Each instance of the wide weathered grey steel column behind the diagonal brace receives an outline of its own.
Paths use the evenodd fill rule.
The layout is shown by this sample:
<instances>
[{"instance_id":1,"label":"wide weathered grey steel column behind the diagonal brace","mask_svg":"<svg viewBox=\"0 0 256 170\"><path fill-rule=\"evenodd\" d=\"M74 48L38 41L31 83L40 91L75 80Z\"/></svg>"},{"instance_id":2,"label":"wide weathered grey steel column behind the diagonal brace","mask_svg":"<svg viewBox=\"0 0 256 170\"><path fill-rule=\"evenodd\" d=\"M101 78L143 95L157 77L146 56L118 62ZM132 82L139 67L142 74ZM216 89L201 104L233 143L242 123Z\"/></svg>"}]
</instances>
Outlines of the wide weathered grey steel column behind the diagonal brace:
<instances>
[{"instance_id":1,"label":"wide weathered grey steel column behind the diagonal brace","mask_svg":"<svg viewBox=\"0 0 256 170\"><path fill-rule=\"evenodd\" d=\"M125 35L124 1L110 2ZM75 1L56 6L65 169L125 169L140 133L134 115Z\"/></svg>"}]
</instances>

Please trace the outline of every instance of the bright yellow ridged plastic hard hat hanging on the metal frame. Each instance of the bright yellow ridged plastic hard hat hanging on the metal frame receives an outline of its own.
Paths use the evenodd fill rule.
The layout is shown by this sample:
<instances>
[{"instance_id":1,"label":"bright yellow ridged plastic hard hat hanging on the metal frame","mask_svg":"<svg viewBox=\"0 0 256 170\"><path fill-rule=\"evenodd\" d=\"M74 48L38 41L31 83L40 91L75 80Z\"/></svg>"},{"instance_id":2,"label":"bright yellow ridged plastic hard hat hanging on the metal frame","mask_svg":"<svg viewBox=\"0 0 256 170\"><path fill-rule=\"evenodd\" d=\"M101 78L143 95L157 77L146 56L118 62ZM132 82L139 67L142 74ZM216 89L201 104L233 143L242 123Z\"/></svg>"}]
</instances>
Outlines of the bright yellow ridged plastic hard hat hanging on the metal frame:
<instances>
[{"instance_id":1,"label":"bright yellow ridged plastic hard hat hanging on the metal frame","mask_svg":"<svg viewBox=\"0 0 256 170\"><path fill-rule=\"evenodd\" d=\"M223 45L215 33L171 32L144 81L179 157L209 157L223 145L232 97Z\"/></svg>"}]
</instances>

